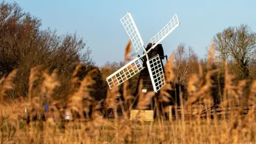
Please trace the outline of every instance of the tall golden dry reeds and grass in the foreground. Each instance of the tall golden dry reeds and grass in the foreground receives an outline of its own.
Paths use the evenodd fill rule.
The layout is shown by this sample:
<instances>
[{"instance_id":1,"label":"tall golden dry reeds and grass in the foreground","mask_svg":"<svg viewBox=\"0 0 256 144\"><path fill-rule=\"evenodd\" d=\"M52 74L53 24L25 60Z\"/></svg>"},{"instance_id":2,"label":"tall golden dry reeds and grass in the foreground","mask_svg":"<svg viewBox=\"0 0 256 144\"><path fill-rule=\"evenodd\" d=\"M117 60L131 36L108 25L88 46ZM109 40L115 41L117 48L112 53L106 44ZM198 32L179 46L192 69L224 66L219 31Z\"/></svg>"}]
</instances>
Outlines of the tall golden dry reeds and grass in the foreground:
<instances>
[{"instance_id":1,"label":"tall golden dry reeds and grass in the foreground","mask_svg":"<svg viewBox=\"0 0 256 144\"><path fill-rule=\"evenodd\" d=\"M130 43L126 47L125 60L130 52ZM63 108L57 108L61 101L56 101L57 105L51 105L51 111L47 114L46 121L35 121L29 124L23 120L24 109L28 108L29 114L33 115L43 111L45 101L51 101L51 95L54 89L60 85L55 71L48 74L40 67L31 69L29 78L28 99L20 98L19 100L6 103L4 102L6 91L12 90L12 81L15 77L14 70L7 77L0 80L0 140L1 143L255 143L255 94L256 81L250 89L245 88L246 81L240 81L237 85L233 83L233 75L228 73L226 67L226 86L223 95L221 107L232 105L246 106L246 101L252 105L249 112L244 116L238 111L231 110L224 113L221 118L210 112L206 113L206 118L194 117L201 115L203 110L210 111L212 106L212 97L210 94L213 86L210 76L218 71L211 69L211 63L214 62L213 49L209 54L207 63L207 73L204 74L202 66L199 65L199 73L192 74L188 82L188 100L182 101L181 117L174 117L170 121L165 121L161 116L158 108L159 103L167 102L172 95L167 90L172 89L176 81L175 65L173 54L169 58L165 67L166 85L161 90L158 98L157 111L158 118L154 122L136 122L129 120L134 95L127 90L128 83L124 83L124 101L116 101L119 97L119 87L111 89L107 93L105 109L113 108L115 119L104 119L99 109L102 101L95 101L90 91L94 83L94 70L90 71L82 81L76 78L80 65L74 71L72 79L72 94L69 95L66 106L68 110L73 110L82 115L89 114L92 107L91 117L83 116L70 122L61 121L63 118ZM140 87L141 88L141 87ZM245 90L246 89L246 90ZM182 93L180 93L182 99ZM145 109L154 97L154 93L139 94L138 108ZM185 119L185 111L191 109L198 102L204 102L197 114L189 113L189 119ZM123 110L123 116L117 117L117 107ZM128 106L128 107L127 107ZM164 108L166 110L166 108ZM177 107L176 107L177 109ZM242 109L242 108L241 108ZM240 112L242 111L240 109ZM54 110L54 111L53 111ZM227 115L229 114L229 115ZM31 118L31 117L30 117Z\"/></svg>"}]
</instances>

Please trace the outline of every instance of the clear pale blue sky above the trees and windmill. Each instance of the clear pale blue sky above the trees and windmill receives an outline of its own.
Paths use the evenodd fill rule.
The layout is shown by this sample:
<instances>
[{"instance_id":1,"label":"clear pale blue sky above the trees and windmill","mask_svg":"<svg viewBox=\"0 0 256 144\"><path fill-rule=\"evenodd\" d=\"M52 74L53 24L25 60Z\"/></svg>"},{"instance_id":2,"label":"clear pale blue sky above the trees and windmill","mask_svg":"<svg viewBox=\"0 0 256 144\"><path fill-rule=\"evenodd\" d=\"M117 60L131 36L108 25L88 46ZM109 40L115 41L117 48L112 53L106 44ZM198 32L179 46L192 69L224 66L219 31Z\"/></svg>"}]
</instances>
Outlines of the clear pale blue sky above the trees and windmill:
<instances>
[{"instance_id":1,"label":"clear pale blue sky above the trees and windmill","mask_svg":"<svg viewBox=\"0 0 256 144\"><path fill-rule=\"evenodd\" d=\"M202 58L205 47L210 45L213 36L219 31L241 23L247 23L256 31L256 1L253 0L15 2L23 10L41 18L44 28L57 28L59 34L77 31L87 41L93 59L99 66L106 61L123 60L129 37L119 19L127 11L131 12L145 46L177 13L181 25L162 42L167 55L180 43L185 43L186 48L192 46Z\"/></svg>"}]
</instances>

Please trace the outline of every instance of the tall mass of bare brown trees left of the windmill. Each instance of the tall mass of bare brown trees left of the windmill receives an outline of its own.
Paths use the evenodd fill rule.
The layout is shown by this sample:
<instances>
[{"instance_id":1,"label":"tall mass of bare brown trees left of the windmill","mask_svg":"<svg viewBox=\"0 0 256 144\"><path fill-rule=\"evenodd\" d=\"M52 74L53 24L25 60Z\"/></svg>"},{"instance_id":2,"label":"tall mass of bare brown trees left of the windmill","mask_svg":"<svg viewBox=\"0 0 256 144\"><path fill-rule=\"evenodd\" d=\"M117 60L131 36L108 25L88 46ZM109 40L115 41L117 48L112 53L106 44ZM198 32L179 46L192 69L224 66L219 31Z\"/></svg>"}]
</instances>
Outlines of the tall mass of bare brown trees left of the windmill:
<instances>
[{"instance_id":1,"label":"tall mass of bare brown trees left of the windmill","mask_svg":"<svg viewBox=\"0 0 256 144\"><path fill-rule=\"evenodd\" d=\"M42 65L50 73L57 69L65 90L77 63L94 64L83 38L76 33L57 35L56 30L42 29L41 25L40 19L23 12L17 3L1 3L0 76L18 68L15 84L21 86L23 96L30 69L35 66Z\"/></svg>"}]
</instances>

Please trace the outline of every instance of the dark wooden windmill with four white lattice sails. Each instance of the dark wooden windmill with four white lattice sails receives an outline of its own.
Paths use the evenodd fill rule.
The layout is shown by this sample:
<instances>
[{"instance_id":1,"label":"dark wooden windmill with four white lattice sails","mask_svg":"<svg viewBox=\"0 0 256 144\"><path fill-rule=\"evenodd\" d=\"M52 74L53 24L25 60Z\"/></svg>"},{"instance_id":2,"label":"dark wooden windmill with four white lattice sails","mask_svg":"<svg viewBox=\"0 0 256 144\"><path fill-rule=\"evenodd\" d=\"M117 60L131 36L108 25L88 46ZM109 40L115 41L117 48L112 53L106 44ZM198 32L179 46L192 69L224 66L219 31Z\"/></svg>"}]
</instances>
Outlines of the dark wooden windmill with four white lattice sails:
<instances>
[{"instance_id":1,"label":"dark wooden windmill with four white lattice sails","mask_svg":"<svg viewBox=\"0 0 256 144\"><path fill-rule=\"evenodd\" d=\"M165 85L162 62L162 59L164 59L164 52L162 45L159 43L180 25L177 14L174 14L162 30L150 38L150 43L146 48L131 13L127 12L120 21L125 28L126 33L129 35L138 57L134 58L132 61L128 62L125 66L106 78L109 88L113 89L113 87L124 83L129 78L140 72L137 90L135 93L138 92L140 79L143 79L142 92L146 93L147 91L153 90L157 93ZM143 49L143 53L142 55L139 55L138 51L141 49Z\"/></svg>"}]
</instances>

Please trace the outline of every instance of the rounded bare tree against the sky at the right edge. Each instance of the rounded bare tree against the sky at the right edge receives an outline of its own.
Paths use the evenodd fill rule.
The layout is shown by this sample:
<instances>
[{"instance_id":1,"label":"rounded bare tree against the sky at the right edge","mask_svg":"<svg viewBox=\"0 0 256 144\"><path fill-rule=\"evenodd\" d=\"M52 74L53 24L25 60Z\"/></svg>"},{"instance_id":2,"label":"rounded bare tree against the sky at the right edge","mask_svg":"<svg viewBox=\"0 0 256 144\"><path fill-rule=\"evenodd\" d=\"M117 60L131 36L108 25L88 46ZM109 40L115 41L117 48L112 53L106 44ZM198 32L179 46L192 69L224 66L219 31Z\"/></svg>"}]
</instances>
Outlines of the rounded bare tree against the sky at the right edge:
<instances>
[{"instance_id":1,"label":"rounded bare tree against the sky at the right edge","mask_svg":"<svg viewBox=\"0 0 256 144\"><path fill-rule=\"evenodd\" d=\"M216 57L234 61L239 78L248 78L249 65L256 56L256 33L247 25L228 27L213 38Z\"/></svg>"}]
</instances>

